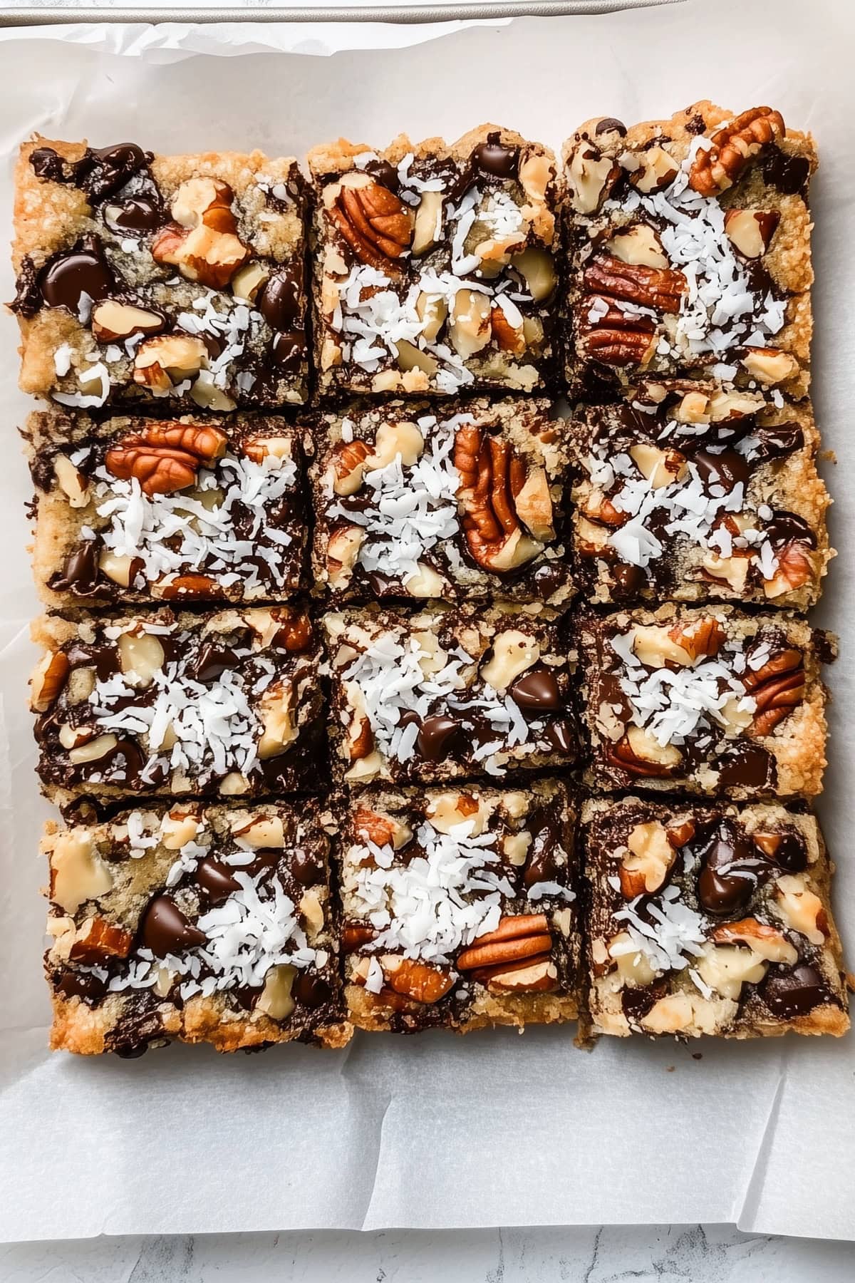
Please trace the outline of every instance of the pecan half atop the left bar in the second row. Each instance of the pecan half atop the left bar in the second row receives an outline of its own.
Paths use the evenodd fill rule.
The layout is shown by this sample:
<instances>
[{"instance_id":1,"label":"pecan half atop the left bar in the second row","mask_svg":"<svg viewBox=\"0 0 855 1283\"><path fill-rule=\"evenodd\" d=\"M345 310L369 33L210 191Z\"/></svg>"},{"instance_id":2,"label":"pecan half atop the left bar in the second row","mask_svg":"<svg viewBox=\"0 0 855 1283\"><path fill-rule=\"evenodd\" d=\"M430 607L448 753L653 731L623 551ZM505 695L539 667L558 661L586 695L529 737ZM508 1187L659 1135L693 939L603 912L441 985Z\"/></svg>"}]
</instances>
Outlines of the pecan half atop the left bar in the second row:
<instances>
[{"instance_id":1,"label":"pecan half atop the left bar in the second row","mask_svg":"<svg viewBox=\"0 0 855 1283\"><path fill-rule=\"evenodd\" d=\"M194 485L199 466L222 458L227 441L218 427L150 423L142 432L123 436L106 452L104 463L119 480L138 481L151 498Z\"/></svg>"}]
</instances>

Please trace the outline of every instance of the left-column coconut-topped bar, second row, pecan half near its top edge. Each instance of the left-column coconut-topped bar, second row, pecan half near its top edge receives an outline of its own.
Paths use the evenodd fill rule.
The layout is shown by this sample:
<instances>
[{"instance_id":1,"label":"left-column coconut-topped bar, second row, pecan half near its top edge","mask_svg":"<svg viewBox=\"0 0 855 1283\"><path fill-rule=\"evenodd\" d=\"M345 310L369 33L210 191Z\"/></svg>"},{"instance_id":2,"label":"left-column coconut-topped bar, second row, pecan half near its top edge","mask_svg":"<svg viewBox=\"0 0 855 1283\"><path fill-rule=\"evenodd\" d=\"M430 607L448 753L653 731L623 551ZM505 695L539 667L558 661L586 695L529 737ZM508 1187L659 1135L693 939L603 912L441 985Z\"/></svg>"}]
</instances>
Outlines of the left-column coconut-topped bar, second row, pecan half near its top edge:
<instances>
[{"instance_id":1,"label":"left-column coconut-topped bar, second row, pecan half near its top edge","mask_svg":"<svg viewBox=\"0 0 855 1283\"><path fill-rule=\"evenodd\" d=\"M49 606L292 597L304 434L273 417L29 416L33 572Z\"/></svg>"}]
</instances>

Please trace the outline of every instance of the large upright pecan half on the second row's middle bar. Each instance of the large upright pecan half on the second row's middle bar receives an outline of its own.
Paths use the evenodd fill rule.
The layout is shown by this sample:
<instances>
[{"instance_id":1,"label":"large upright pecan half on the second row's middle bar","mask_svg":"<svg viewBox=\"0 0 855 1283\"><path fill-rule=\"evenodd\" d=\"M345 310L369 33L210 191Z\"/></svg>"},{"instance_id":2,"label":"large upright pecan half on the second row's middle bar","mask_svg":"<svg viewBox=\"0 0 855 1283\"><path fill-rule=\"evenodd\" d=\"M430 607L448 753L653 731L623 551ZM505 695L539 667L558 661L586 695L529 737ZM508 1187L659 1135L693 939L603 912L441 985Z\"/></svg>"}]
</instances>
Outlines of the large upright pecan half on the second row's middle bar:
<instances>
[{"instance_id":1,"label":"large upright pecan half on the second row's middle bar","mask_svg":"<svg viewBox=\"0 0 855 1283\"><path fill-rule=\"evenodd\" d=\"M473 559L483 570L511 570L536 557L542 544L523 535L517 508L529 473L509 441L464 423L454 439L454 466L460 473L458 503ZM538 511L537 530L551 523L549 488ZM542 518L542 520L541 520Z\"/></svg>"}]
</instances>

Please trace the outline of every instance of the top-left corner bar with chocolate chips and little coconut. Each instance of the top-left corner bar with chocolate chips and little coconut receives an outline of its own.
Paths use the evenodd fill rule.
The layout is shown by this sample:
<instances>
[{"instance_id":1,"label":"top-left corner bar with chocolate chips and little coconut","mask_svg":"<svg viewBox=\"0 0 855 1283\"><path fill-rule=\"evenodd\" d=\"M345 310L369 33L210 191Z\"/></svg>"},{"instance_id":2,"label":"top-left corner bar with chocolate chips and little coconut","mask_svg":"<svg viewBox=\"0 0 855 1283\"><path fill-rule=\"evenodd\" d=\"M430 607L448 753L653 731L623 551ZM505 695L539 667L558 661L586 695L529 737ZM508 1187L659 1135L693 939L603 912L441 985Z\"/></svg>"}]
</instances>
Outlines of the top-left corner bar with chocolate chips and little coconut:
<instances>
[{"instance_id":1,"label":"top-left corner bar with chocolate chips and little coconut","mask_svg":"<svg viewBox=\"0 0 855 1283\"><path fill-rule=\"evenodd\" d=\"M13 246L23 391L82 408L304 402L305 218L290 158L24 142Z\"/></svg>"}]
</instances>

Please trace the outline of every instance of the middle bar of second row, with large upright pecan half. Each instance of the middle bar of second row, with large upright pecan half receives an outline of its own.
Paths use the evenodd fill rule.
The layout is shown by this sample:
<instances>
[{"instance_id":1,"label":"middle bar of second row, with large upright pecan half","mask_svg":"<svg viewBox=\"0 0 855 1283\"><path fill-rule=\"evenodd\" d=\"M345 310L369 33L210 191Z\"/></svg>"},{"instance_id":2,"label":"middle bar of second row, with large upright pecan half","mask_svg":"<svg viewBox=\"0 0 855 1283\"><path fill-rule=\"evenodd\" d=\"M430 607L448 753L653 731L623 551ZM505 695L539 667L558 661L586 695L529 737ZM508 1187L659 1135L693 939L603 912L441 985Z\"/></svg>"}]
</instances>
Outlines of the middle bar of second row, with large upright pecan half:
<instances>
[{"instance_id":1,"label":"middle bar of second row, with large upright pecan half","mask_svg":"<svg viewBox=\"0 0 855 1283\"><path fill-rule=\"evenodd\" d=\"M535 399L323 414L315 581L338 600L568 600L565 436Z\"/></svg>"}]
</instances>

